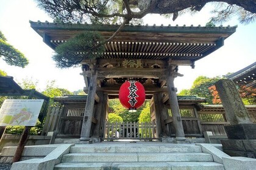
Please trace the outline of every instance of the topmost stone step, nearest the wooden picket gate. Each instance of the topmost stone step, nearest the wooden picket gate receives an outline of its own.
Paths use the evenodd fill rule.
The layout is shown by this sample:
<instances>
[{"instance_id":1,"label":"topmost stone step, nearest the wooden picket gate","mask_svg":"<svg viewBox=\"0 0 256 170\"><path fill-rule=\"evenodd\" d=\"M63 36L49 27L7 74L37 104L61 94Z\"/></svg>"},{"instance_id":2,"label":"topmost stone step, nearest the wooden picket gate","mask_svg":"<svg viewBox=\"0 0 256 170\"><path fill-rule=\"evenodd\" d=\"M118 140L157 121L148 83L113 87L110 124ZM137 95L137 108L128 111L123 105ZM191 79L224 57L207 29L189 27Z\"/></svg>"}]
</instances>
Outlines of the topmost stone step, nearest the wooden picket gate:
<instances>
[{"instance_id":1,"label":"topmost stone step, nearest the wooden picket gate","mask_svg":"<svg viewBox=\"0 0 256 170\"><path fill-rule=\"evenodd\" d=\"M70 153L162 153L202 152L200 146L73 146Z\"/></svg>"}]
</instances>

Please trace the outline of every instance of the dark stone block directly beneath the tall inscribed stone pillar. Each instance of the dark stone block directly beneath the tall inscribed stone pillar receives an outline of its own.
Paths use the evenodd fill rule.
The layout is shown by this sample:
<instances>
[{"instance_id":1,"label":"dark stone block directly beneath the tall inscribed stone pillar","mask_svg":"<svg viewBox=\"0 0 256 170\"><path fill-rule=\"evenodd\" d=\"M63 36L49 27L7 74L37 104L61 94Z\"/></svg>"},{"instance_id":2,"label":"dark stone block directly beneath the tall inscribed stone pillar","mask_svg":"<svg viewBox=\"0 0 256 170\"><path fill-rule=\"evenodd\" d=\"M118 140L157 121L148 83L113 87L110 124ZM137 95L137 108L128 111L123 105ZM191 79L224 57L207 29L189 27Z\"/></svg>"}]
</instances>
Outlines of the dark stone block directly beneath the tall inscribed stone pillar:
<instances>
[{"instance_id":1,"label":"dark stone block directly beneath the tall inscribed stone pillar","mask_svg":"<svg viewBox=\"0 0 256 170\"><path fill-rule=\"evenodd\" d=\"M256 140L256 124L233 124L224 128L229 139Z\"/></svg>"}]
</instances>

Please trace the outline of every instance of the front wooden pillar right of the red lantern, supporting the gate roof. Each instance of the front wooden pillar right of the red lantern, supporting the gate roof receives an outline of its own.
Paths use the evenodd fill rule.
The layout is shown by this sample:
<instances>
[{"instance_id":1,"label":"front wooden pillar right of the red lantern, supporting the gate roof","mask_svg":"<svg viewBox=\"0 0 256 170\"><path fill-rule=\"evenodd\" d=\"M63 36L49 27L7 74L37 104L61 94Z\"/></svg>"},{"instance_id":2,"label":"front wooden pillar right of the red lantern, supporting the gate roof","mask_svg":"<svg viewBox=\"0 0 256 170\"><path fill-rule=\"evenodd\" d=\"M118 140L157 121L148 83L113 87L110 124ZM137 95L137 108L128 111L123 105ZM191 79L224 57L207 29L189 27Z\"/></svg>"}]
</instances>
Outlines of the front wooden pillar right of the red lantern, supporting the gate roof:
<instances>
[{"instance_id":1,"label":"front wooden pillar right of the red lantern, supporting the gate roof","mask_svg":"<svg viewBox=\"0 0 256 170\"><path fill-rule=\"evenodd\" d=\"M175 127L176 140L185 140L185 134L182 126L182 119L180 116L180 109L174 87L174 78L177 77L177 72L171 71L167 78L169 104L171 107L172 121Z\"/></svg>"}]
</instances>

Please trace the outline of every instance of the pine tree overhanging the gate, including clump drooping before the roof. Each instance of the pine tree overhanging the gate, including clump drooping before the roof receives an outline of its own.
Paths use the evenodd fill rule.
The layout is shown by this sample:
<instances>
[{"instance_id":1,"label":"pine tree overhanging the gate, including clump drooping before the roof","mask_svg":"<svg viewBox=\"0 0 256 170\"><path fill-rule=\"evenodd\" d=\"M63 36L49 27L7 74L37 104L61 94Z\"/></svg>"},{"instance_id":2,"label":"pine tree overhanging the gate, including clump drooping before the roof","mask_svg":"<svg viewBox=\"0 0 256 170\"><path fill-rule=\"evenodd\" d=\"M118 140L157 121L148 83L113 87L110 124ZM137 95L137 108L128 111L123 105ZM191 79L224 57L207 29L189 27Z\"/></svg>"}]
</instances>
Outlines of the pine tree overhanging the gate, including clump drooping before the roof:
<instances>
[{"instance_id":1,"label":"pine tree overhanging the gate, including clump drooping before the roof","mask_svg":"<svg viewBox=\"0 0 256 170\"><path fill-rule=\"evenodd\" d=\"M175 20L185 12L199 12L205 4L215 2L216 15L210 20L212 22L225 22L238 15L240 22L249 23L256 18L255 0L37 0L38 6L47 12L54 22L91 22L93 24L120 24L119 28L108 39L102 39L98 33L84 33L77 35L69 41L56 48L53 56L57 67L76 67L84 58L96 58L103 52L106 42L113 39L130 22L141 22L149 13L172 16ZM172 14L172 15L170 15ZM98 43L99 42L99 43Z\"/></svg>"}]
</instances>

